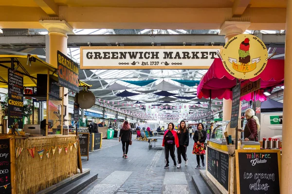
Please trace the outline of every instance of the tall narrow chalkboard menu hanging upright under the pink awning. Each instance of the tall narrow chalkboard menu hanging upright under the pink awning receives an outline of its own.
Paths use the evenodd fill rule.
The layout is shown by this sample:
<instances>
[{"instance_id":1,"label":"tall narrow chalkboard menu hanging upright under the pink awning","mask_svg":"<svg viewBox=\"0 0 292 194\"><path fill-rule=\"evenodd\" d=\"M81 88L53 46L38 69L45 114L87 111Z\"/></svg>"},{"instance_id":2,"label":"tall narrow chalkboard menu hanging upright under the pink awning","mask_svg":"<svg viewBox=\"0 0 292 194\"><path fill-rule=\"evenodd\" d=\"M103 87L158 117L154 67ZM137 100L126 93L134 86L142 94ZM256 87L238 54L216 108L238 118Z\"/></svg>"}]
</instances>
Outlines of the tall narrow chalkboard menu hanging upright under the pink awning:
<instances>
[{"instance_id":1,"label":"tall narrow chalkboard menu hanging upright under the pink awning","mask_svg":"<svg viewBox=\"0 0 292 194\"><path fill-rule=\"evenodd\" d=\"M240 84L238 84L232 89L232 109L230 128L236 128L238 125L239 102L240 102Z\"/></svg>"}]
</instances>

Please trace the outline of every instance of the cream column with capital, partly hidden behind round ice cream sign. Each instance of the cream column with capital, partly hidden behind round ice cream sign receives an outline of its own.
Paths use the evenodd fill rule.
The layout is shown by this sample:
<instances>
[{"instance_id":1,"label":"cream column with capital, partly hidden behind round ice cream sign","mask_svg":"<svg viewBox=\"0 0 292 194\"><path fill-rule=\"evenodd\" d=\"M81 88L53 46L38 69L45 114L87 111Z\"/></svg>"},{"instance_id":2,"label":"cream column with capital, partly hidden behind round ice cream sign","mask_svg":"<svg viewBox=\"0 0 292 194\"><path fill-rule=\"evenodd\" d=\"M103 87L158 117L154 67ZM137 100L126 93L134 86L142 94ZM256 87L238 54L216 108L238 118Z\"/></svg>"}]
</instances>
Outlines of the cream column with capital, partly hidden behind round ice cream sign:
<instances>
[{"instance_id":1,"label":"cream column with capital, partly hidden behind round ice cream sign","mask_svg":"<svg viewBox=\"0 0 292 194\"><path fill-rule=\"evenodd\" d=\"M233 21L225 21L224 24L220 28L220 35L225 35L225 43L238 34L242 34L246 31L246 29L250 26L250 22L233 22ZM239 117L241 113L241 103L239 108ZM232 100L223 99L223 121L230 120L231 118L231 109L232 109ZM238 122L238 126L240 123ZM235 131L228 131L228 134L232 135L235 138ZM240 136L238 136L240 137Z\"/></svg>"}]
</instances>

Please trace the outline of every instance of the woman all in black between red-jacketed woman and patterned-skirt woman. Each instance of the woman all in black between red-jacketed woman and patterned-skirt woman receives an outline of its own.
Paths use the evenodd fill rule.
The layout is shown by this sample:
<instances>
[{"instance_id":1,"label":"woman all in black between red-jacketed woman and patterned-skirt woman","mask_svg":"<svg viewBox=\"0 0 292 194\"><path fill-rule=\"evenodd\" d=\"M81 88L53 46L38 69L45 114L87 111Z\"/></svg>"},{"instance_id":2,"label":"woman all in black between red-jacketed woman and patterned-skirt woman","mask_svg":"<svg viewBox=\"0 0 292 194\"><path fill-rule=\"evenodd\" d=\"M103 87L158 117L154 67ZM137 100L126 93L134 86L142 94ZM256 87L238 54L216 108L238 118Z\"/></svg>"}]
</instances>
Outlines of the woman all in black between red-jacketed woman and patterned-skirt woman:
<instances>
[{"instance_id":1,"label":"woman all in black between red-jacketed woman and patterned-skirt woman","mask_svg":"<svg viewBox=\"0 0 292 194\"><path fill-rule=\"evenodd\" d=\"M184 165L187 166L187 157L186 157L186 147L189 144L189 131L185 126L185 122L181 121L180 123L180 128L178 130L178 137L179 137L179 147L177 148L178 152L178 160L179 160L179 165L177 168L181 168L181 163L182 163L182 158L184 160Z\"/></svg>"}]
</instances>

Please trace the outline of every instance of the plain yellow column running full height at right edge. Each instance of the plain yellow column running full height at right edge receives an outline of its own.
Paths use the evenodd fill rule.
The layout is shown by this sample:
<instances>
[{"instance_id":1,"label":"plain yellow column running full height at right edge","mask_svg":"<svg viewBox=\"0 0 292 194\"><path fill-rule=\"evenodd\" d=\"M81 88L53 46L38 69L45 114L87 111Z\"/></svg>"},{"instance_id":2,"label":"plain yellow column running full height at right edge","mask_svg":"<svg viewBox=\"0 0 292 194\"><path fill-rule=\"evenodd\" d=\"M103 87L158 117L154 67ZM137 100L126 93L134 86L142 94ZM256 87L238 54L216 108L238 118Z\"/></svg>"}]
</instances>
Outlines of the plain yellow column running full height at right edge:
<instances>
[{"instance_id":1,"label":"plain yellow column running full height at right edge","mask_svg":"<svg viewBox=\"0 0 292 194\"><path fill-rule=\"evenodd\" d=\"M291 36L291 37L290 37ZM289 119L292 118L292 0L287 0L286 11L286 39L285 39L285 91L283 107L283 130L282 130L282 171L281 171L281 194L291 194L292 191L292 153L291 138L292 130Z\"/></svg>"}]
</instances>

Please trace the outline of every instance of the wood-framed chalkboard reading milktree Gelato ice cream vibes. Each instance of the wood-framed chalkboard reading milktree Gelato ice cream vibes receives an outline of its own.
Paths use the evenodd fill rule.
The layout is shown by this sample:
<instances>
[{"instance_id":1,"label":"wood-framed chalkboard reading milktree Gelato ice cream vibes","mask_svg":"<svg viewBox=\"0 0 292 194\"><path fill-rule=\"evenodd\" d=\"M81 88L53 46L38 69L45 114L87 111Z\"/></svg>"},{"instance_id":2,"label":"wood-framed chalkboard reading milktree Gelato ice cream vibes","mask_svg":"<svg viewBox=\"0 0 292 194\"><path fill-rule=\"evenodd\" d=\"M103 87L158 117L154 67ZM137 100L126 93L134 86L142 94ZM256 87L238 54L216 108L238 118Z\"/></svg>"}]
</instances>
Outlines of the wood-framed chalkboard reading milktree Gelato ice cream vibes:
<instances>
[{"instance_id":1,"label":"wood-framed chalkboard reading milktree Gelato ice cream vibes","mask_svg":"<svg viewBox=\"0 0 292 194\"><path fill-rule=\"evenodd\" d=\"M238 194L280 194L280 150L236 150Z\"/></svg>"}]
</instances>

